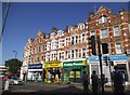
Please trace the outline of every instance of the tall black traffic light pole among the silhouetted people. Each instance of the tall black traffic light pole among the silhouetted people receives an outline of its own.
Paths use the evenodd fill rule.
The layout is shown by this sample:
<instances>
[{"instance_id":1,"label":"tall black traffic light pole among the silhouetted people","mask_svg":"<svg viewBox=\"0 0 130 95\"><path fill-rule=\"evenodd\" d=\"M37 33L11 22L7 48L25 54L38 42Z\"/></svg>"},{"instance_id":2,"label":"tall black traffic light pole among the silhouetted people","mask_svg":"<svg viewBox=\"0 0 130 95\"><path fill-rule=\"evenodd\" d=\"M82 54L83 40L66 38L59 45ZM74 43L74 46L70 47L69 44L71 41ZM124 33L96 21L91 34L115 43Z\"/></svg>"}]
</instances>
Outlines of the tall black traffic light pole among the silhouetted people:
<instances>
[{"instance_id":1,"label":"tall black traffic light pole among the silhouetted people","mask_svg":"<svg viewBox=\"0 0 130 95\"><path fill-rule=\"evenodd\" d=\"M102 54L101 54L101 41L100 37L96 38L98 40L98 49L99 49L99 60L100 60L100 70L101 70L101 85L102 85L102 95L104 95L104 79L103 79L103 67L102 67Z\"/></svg>"}]
</instances>

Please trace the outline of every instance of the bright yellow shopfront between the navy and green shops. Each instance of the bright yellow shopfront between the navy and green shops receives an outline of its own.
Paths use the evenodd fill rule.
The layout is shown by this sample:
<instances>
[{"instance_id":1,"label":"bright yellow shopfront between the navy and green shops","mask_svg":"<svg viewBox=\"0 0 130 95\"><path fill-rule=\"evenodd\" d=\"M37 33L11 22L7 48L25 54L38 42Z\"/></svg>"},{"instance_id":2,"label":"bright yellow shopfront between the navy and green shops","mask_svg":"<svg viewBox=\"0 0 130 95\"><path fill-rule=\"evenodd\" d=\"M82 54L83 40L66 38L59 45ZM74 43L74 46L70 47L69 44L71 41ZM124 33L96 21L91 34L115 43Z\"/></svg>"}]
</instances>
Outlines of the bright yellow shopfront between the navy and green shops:
<instances>
[{"instance_id":1,"label":"bright yellow shopfront between the navy and green shops","mask_svg":"<svg viewBox=\"0 0 130 95\"><path fill-rule=\"evenodd\" d=\"M54 82L57 83L61 80L61 62L52 60L46 62L44 70L46 70L46 82Z\"/></svg>"}]
</instances>

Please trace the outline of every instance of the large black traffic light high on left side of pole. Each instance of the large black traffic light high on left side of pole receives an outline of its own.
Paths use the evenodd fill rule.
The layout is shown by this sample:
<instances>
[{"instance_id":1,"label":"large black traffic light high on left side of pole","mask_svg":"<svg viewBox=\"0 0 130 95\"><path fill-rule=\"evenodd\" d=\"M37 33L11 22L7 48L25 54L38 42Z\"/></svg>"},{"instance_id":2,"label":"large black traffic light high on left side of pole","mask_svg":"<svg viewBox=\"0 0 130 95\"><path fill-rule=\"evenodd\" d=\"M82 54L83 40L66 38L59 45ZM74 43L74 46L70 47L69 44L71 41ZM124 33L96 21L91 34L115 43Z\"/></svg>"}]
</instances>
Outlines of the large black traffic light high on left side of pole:
<instances>
[{"instance_id":1,"label":"large black traffic light high on left side of pole","mask_svg":"<svg viewBox=\"0 0 130 95\"><path fill-rule=\"evenodd\" d=\"M92 54L96 55L96 50L95 50L95 36L91 36L88 38L89 41L89 49L92 49Z\"/></svg>"}]
</instances>

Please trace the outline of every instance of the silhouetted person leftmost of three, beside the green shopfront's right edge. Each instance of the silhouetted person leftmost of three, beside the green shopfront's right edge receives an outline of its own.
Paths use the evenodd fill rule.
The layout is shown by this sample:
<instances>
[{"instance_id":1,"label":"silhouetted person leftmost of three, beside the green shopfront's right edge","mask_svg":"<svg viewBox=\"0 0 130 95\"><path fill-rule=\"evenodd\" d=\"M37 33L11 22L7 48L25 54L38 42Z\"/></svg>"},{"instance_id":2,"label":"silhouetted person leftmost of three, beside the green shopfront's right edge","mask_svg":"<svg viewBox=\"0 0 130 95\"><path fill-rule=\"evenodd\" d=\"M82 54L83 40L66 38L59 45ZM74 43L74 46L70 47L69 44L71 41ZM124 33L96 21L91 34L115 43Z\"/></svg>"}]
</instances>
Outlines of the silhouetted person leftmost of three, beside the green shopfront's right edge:
<instances>
[{"instance_id":1,"label":"silhouetted person leftmost of three, beside the green shopfront's right edge","mask_svg":"<svg viewBox=\"0 0 130 95\"><path fill-rule=\"evenodd\" d=\"M82 85L83 85L83 93L88 93L89 92L89 89L88 89L89 82L88 82L88 76L87 76L86 71L83 71L83 76L82 76Z\"/></svg>"}]
</instances>

